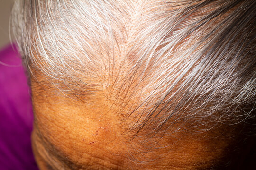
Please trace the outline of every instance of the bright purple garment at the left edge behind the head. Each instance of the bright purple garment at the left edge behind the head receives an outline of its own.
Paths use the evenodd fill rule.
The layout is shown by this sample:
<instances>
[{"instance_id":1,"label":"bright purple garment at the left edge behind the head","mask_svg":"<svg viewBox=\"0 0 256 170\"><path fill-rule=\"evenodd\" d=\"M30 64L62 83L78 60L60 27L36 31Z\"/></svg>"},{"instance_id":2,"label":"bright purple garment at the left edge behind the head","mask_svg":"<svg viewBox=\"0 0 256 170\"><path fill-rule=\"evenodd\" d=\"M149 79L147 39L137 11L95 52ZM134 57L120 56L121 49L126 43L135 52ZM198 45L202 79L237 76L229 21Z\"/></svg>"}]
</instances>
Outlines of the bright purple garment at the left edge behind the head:
<instances>
[{"instance_id":1,"label":"bright purple garment at the left edge behind the head","mask_svg":"<svg viewBox=\"0 0 256 170\"><path fill-rule=\"evenodd\" d=\"M0 170L38 170L31 149L33 112L15 47L0 51Z\"/></svg>"}]
</instances>

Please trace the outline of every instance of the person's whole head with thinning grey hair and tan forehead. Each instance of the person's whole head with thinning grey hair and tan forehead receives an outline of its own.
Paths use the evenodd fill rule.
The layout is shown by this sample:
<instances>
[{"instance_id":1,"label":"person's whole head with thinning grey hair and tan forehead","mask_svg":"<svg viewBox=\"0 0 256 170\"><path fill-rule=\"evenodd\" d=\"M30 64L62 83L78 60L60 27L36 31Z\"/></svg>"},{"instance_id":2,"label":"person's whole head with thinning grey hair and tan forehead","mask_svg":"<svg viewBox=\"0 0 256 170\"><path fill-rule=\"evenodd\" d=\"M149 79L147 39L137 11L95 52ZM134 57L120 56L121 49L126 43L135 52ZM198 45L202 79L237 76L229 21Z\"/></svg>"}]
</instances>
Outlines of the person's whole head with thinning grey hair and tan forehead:
<instances>
[{"instance_id":1,"label":"person's whole head with thinning grey hair and tan forehead","mask_svg":"<svg viewBox=\"0 0 256 170\"><path fill-rule=\"evenodd\" d=\"M12 24L31 84L39 168L237 166L230 155L254 133L255 7L17 1Z\"/></svg>"}]
</instances>

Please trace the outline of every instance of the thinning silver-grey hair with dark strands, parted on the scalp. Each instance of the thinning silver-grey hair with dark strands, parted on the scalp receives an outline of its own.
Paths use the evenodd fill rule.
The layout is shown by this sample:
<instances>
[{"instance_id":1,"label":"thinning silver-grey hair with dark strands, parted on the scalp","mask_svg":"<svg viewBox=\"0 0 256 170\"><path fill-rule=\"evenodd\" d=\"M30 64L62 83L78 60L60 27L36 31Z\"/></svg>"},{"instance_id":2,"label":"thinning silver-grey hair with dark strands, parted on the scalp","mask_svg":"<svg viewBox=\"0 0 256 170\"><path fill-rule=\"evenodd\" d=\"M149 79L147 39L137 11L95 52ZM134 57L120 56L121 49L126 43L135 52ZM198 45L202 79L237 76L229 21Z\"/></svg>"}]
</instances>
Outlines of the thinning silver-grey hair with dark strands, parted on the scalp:
<instances>
[{"instance_id":1,"label":"thinning silver-grey hair with dark strands, parted on the scalp","mask_svg":"<svg viewBox=\"0 0 256 170\"><path fill-rule=\"evenodd\" d=\"M120 118L137 118L130 129L254 117L255 0L17 0L14 8L30 76L79 100L104 93Z\"/></svg>"}]
</instances>

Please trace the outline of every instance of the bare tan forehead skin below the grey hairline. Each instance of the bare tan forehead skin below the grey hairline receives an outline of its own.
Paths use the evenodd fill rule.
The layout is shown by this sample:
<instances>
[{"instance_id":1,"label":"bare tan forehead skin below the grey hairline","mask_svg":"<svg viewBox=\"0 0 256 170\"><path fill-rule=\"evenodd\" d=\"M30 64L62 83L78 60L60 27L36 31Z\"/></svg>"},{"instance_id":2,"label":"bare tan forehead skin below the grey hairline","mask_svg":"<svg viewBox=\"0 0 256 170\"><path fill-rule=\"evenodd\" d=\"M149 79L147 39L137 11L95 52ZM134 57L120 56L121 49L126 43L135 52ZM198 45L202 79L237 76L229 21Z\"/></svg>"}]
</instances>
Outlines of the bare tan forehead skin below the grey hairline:
<instances>
[{"instance_id":1,"label":"bare tan forehead skin below the grey hairline","mask_svg":"<svg viewBox=\"0 0 256 170\"><path fill-rule=\"evenodd\" d=\"M84 103L40 93L33 87L32 82L35 152L58 169L209 167L226 156L232 141L222 136L226 128L199 135L173 133L150 139L137 136L131 140L131 134L115 114L117 108L103 97Z\"/></svg>"}]
</instances>

